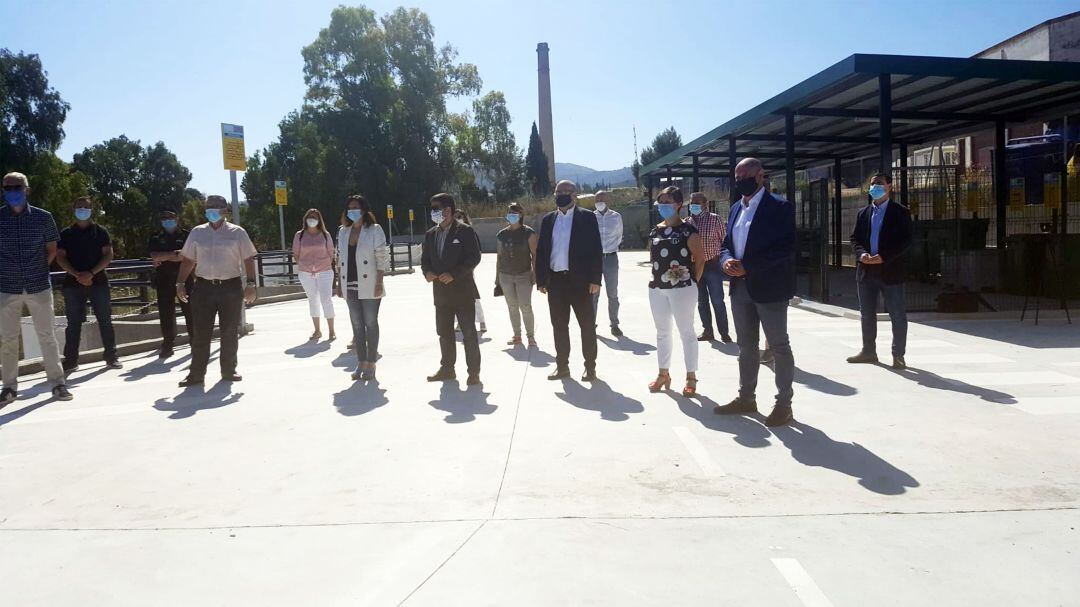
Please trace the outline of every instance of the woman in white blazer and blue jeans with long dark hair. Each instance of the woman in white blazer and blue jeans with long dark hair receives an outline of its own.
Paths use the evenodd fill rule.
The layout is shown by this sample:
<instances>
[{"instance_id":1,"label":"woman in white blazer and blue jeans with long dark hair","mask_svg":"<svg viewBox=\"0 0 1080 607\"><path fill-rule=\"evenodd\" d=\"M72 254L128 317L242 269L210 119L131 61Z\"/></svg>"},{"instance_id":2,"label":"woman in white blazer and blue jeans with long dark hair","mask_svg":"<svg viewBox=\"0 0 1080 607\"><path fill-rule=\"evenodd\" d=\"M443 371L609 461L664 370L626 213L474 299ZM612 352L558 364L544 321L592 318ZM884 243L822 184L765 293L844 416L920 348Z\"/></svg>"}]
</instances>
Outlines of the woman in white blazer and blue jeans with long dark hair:
<instances>
[{"instance_id":1,"label":"woman in white blazer and blue jeans with long dark hair","mask_svg":"<svg viewBox=\"0 0 1080 607\"><path fill-rule=\"evenodd\" d=\"M338 230L337 295L345 297L352 321L352 342L356 370L352 379L374 381L379 358L379 304L386 289L382 276L390 271L387 237L364 197L346 200Z\"/></svg>"}]
</instances>

